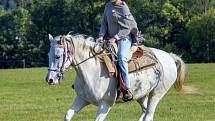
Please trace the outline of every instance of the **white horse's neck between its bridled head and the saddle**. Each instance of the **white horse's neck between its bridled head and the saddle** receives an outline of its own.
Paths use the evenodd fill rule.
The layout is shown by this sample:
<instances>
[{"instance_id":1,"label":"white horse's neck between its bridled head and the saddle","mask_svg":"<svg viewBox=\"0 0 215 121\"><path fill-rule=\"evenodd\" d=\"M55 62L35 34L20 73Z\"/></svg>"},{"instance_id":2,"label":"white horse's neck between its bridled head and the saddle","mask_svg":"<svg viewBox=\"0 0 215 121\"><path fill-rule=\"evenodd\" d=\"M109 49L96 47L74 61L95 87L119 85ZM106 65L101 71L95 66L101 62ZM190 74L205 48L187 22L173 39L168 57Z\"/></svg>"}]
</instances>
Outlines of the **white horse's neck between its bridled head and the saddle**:
<instances>
[{"instance_id":1,"label":"white horse's neck between its bridled head and the saddle","mask_svg":"<svg viewBox=\"0 0 215 121\"><path fill-rule=\"evenodd\" d=\"M101 63L98 62L96 57L91 53L90 47L87 42L74 41L74 58L73 64L77 75L79 76L80 83L89 86L94 85L98 74L101 71Z\"/></svg>"}]
</instances>

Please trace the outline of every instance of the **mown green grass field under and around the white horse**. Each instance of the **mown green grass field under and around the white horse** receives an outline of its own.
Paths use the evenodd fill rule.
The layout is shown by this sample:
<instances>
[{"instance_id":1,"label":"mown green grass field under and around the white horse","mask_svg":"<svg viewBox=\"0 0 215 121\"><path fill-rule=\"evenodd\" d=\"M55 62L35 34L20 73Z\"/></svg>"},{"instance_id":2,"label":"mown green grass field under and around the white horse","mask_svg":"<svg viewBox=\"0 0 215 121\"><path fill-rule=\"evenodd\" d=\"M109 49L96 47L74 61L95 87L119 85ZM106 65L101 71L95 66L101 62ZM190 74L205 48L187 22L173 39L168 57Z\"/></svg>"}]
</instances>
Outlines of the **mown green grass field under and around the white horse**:
<instances>
[{"instance_id":1,"label":"mown green grass field under and around the white horse","mask_svg":"<svg viewBox=\"0 0 215 121\"><path fill-rule=\"evenodd\" d=\"M0 70L0 121L62 121L75 97L71 88L74 71L60 85L48 86L47 68ZM188 64L185 85L198 94L172 88L159 103L155 121L215 121L215 64ZM88 106L73 121L93 121L96 107ZM137 121L141 113L133 101L115 105L106 121Z\"/></svg>"}]
</instances>

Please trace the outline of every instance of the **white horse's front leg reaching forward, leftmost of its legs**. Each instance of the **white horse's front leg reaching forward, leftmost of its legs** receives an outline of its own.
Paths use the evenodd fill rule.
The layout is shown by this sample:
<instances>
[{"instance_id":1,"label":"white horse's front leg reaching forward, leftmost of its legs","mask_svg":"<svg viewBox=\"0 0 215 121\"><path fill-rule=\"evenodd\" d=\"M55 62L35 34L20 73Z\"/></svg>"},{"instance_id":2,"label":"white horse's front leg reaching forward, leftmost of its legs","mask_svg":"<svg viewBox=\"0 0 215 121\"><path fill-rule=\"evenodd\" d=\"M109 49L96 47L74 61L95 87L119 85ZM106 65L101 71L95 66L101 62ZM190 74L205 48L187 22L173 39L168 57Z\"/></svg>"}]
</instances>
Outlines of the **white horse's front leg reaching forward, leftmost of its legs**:
<instances>
[{"instance_id":1,"label":"white horse's front leg reaching forward, leftmost of its legs","mask_svg":"<svg viewBox=\"0 0 215 121\"><path fill-rule=\"evenodd\" d=\"M76 112L79 112L83 107L87 106L89 103L76 96L72 106L66 112L64 116L64 121L70 121Z\"/></svg>"}]
</instances>

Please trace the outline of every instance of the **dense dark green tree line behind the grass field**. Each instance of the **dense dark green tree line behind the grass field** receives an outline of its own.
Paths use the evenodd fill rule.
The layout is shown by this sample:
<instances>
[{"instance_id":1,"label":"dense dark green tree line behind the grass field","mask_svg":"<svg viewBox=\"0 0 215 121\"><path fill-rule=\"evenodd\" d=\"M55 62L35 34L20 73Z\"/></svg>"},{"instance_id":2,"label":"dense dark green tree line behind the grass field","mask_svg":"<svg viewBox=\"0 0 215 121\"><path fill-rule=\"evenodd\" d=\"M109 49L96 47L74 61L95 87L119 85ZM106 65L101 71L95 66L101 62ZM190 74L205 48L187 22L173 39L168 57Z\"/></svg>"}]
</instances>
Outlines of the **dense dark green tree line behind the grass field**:
<instances>
[{"instance_id":1,"label":"dense dark green tree line behind the grass field","mask_svg":"<svg viewBox=\"0 0 215 121\"><path fill-rule=\"evenodd\" d=\"M0 8L0 60L47 66L48 34L97 37L109 0L19 0ZM145 46L182 55L185 62L215 62L214 0L127 0ZM3 64L0 67L16 67Z\"/></svg>"}]
</instances>

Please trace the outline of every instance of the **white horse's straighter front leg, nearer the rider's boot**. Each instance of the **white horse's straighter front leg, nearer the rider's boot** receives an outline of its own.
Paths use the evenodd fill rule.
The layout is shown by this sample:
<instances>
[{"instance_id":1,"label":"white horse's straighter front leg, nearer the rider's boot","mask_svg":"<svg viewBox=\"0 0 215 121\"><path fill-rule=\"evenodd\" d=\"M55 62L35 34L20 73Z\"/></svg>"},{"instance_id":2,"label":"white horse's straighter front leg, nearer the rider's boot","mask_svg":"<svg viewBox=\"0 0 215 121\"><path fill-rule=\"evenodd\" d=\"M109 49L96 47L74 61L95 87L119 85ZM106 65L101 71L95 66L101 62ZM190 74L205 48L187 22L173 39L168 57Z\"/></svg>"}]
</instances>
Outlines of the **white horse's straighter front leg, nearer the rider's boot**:
<instances>
[{"instance_id":1,"label":"white horse's straighter front leg, nearer the rider's boot","mask_svg":"<svg viewBox=\"0 0 215 121\"><path fill-rule=\"evenodd\" d=\"M111 109L111 106L105 102L102 102L101 104L99 104L96 112L95 121L104 121L110 109Z\"/></svg>"}]
</instances>

